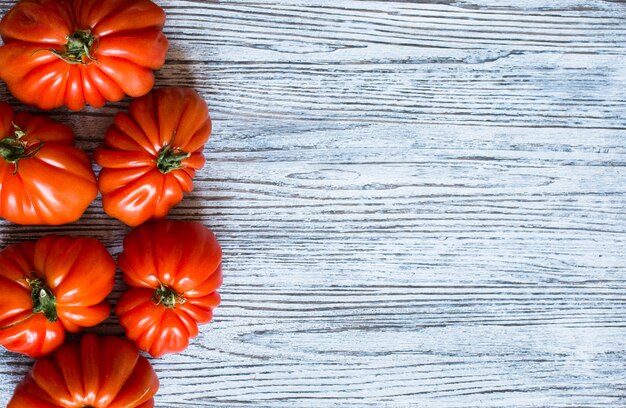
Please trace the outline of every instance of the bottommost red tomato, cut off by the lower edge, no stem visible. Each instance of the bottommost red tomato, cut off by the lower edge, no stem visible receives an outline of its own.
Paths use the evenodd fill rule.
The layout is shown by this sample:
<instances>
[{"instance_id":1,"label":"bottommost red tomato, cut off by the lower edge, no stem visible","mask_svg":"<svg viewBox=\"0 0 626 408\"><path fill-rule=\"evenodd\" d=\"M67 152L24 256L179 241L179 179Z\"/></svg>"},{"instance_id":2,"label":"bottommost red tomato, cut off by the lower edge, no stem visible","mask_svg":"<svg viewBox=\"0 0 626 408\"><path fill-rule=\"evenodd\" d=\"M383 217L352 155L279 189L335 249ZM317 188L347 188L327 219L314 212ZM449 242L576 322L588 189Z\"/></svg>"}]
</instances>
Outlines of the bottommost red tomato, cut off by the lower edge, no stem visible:
<instances>
[{"instance_id":1,"label":"bottommost red tomato, cut off by the lower edge, no stem visible","mask_svg":"<svg viewBox=\"0 0 626 408\"><path fill-rule=\"evenodd\" d=\"M135 345L85 334L35 362L8 408L148 408L158 389L154 369Z\"/></svg>"}]
</instances>

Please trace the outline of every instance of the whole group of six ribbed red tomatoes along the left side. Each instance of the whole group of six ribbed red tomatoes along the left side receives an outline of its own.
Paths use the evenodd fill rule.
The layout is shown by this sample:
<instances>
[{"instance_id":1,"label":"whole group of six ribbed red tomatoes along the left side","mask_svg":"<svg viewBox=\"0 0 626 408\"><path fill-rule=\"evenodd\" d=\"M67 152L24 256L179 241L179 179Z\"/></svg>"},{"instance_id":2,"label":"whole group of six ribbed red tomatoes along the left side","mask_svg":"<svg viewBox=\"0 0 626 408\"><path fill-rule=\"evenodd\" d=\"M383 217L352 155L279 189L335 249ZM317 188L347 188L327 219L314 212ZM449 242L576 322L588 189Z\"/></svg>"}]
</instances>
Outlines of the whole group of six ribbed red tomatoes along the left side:
<instances>
[{"instance_id":1,"label":"whole group of six ribbed red tomatoes along the left side","mask_svg":"<svg viewBox=\"0 0 626 408\"><path fill-rule=\"evenodd\" d=\"M197 222L165 220L204 166L208 107L192 89L152 91L165 63L164 11L150 0L20 0L0 21L0 79L41 109L136 98L89 156L74 133L0 103L0 217L17 224L78 220L102 195L136 227L117 258L128 289L115 307L128 339L84 335L110 314L116 263L102 243L48 235L0 252L0 345L38 358L9 407L152 407L153 357L180 352L212 318L222 252ZM155 239L158 237L158 239Z\"/></svg>"}]
</instances>

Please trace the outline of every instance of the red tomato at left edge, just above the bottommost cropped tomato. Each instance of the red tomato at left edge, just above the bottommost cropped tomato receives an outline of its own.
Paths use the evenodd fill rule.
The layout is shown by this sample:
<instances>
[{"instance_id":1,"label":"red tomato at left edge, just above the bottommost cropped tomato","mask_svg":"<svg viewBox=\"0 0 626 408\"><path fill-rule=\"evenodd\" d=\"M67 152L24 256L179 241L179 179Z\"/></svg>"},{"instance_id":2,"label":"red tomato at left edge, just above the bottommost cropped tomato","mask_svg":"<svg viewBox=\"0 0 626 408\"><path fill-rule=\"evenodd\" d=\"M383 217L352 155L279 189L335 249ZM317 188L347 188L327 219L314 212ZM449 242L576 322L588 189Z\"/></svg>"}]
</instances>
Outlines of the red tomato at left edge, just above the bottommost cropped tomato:
<instances>
[{"instance_id":1,"label":"red tomato at left edge, just above the bottommost cropped tomato","mask_svg":"<svg viewBox=\"0 0 626 408\"><path fill-rule=\"evenodd\" d=\"M0 251L0 345L31 357L109 317L115 261L97 240L48 235Z\"/></svg>"}]
</instances>

